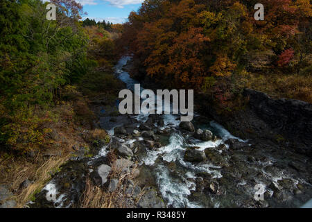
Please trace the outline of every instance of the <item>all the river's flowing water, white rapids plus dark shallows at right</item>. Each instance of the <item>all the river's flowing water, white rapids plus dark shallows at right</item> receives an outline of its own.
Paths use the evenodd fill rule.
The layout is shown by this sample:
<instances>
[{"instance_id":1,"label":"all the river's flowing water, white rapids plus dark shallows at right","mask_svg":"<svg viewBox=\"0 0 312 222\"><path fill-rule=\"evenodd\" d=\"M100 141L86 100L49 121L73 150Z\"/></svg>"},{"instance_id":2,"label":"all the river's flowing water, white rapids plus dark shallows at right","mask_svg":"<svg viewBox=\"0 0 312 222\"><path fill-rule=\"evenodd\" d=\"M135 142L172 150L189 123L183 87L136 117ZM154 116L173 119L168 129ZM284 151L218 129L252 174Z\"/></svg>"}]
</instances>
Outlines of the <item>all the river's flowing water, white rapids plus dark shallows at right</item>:
<instances>
[{"instance_id":1,"label":"all the river's flowing water, white rapids plus dark shallows at right","mask_svg":"<svg viewBox=\"0 0 312 222\"><path fill-rule=\"evenodd\" d=\"M130 77L128 72L123 70L123 66L131 60L130 56L124 56L115 66L115 74L116 77L122 80L128 89L134 91L135 84L139 83L137 80L134 80ZM143 88L141 87L141 90ZM157 96L155 97L156 101ZM172 106L170 106L172 108ZM197 114L194 114L195 116ZM137 126L140 123L144 123L148 119L148 114L136 114L130 116L131 118L139 121ZM168 207L233 207L233 206L253 206L249 202L244 205L245 200L252 200L254 195L254 183L268 185L271 182L278 184L279 180L291 180L294 185L297 185L299 182L311 187L309 182L302 178L294 178L292 171L288 169L283 169L283 167L273 167L274 163L277 162L274 157L271 155L266 155L266 153L261 153L260 160L254 161L253 163L246 162L245 160L236 160L235 167L230 172L231 176L227 175L225 178L225 182L223 181L223 188L225 189L225 196L216 196L216 195L207 195L207 199L211 201L207 202L207 199L200 201L195 198L190 198L191 192L196 190L196 178L198 177L198 173L205 173L209 175L211 179L220 180L225 175L223 175L220 166L216 166L211 164L211 162L199 162L199 163L191 163L184 161L184 152L185 148L189 146L196 146L199 150L203 151L205 148L214 148L219 146L220 144L225 144L227 139L239 139L240 142L248 142L243 139L234 137L231 135L223 126L216 123L216 121L200 121L200 128L211 130L214 135L218 138L214 142L202 142L200 140L192 140L191 142L186 139L185 135L182 135L182 131L179 130L180 124L180 115L179 114L162 114L160 116L164 120L164 126L159 127L160 129L171 128L172 133L168 136L168 142L165 146L157 148L157 150L147 150L147 153L144 157L141 158L141 165L145 165L149 167L151 171L153 171L155 175L155 181L157 183L157 188L159 189L162 197L166 200ZM123 121L119 121L117 119L117 124L114 126L121 126ZM157 126L157 123L155 123ZM135 137L135 139L120 139L119 137L114 136L114 127L105 128L108 133L114 138L119 140L127 145L131 145L134 142L144 140L142 137ZM228 149L229 146L225 145ZM108 145L103 146L101 150L98 152L98 155L93 158L96 159L101 156L107 155L109 152ZM222 153L223 151L218 151ZM259 153L257 153L259 154ZM255 153L255 155L257 156ZM254 153L252 153L253 157ZM236 158L240 157L236 155ZM282 157L277 156L280 159ZM283 162L284 160L278 160L279 162ZM169 166L171 164L171 167ZM246 164L246 165L244 165ZM174 166L174 167L172 167ZM245 178L237 176L241 173L245 173L244 169L248 169L248 176ZM237 170L236 170L237 168ZM249 174L251 173L251 176ZM259 176L261 174L261 176ZM253 176L254 175L254 176ZM239 179L237 179L239 178ZM250 182L253 180L254 182ZM229 182L228 182L229 181ZM227 183L226 183L227 182ZM44 189L48 191L48 194L56 195L58 192L54 189L55 181L52 180L49 182ZM272 190L269 189L269 195L272 196ZM237 200L238 198L240 200ZM59 194L58 198L54 201L58 207L70 207L69 205L64 205L63 202L66 200L68 196L65 194ZM200 198L198 198L200 199ZM237 201L236 201L237 200ZM297 200L295 200L297 201ZM306 200L304 200L306 201ZM300 206L302 203L298 200L298 203L295 203L295 206ZM279 206L279 205L277 205ZM293 206L293 205L292 205Z\"/></svg>"}]
</instances>

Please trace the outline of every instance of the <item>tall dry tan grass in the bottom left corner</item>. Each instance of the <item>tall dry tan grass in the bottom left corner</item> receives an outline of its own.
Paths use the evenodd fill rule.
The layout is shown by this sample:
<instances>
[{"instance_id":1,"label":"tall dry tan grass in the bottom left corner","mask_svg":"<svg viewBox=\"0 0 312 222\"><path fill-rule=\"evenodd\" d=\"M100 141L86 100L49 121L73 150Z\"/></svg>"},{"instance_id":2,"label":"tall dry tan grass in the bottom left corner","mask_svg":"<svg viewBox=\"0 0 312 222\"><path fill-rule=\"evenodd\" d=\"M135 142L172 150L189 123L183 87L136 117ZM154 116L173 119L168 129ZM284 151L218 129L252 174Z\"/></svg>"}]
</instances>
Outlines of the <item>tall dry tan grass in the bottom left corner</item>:
<instances>
[{"instance_id":1,"label":"tall dry tan grass in the bottom left corner","mask_svg":"<svg viewBox=\"0 0 312 222\"><path fill-rule=\"evenodd\" d=\"M50 157L44 161L42 156L37 155L33 162L24 157L19 159L11 157L1 162L1 181L9 185L10 190L14 192L12 198L17 201L16 207L24 207L51 179L51 175L58 171L60 165L68 160L68 157L69 155ZM26 179L33 183L26 188L21 188L21 183Z\"/></svg>"}]
</instances>

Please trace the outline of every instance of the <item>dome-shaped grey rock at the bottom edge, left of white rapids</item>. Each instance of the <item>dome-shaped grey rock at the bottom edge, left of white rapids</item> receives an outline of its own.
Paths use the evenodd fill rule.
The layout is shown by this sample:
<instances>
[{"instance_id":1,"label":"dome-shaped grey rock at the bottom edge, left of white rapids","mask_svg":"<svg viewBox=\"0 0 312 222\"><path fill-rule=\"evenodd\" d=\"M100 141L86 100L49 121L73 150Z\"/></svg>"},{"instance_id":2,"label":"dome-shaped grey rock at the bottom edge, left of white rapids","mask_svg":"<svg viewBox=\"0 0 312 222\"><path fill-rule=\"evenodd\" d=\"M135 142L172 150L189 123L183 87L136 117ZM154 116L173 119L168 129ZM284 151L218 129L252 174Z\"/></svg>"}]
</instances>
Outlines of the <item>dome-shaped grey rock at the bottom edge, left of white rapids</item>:
<instances>
[{"instance_id":1,"label":"dome-shaped grey rock at the bottom edge, left of white rapids","mask_svg":"<svg viewBox=\"0 0 312 222\"><path fill-rule=\"evenodd\" d=\"M139 202L137 203L137 207L139 208L164 208L166 205L164 204L164 200L159 198L155 189L150 189L146 191L143 196L141 196Z\"/></svg>"}]
</instances>

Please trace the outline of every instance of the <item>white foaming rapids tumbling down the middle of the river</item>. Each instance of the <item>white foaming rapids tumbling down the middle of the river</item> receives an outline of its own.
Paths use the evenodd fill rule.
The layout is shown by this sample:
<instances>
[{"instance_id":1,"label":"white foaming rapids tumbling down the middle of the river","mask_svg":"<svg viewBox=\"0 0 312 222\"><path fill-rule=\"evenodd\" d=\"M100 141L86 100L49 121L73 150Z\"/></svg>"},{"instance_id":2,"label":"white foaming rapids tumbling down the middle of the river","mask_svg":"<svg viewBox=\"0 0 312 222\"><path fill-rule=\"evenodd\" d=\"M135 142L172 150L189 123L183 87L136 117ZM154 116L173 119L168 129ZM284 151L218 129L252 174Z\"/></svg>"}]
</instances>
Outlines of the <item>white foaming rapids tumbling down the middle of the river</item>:
<instances>
[{"instance_id":1,"label":"white foaming rapids tumbling down the middle of the river","mask_svg":"<svg viewBox=\"0 0 312 222\"><path fill-rule=\"evenodd\" d=\"M130 56L121 58L115 67L115 72L117 78L122 80L127 85L127 88L133 91L134 85L138 83L138 81L132 79L126 71L123 71L123 66L126 65L130 59ZM143 88L141 87L141 90L142 89ZM159 98L156 97L155 99ZM183 160L185 147L197 146L200 147L200 150L204 150L207 147L216 147L220 144L223 144L227 139L236 137L231 135L225 128L223 128L223 126L220 126L220 124L216 123L215 121L210 121L207 123L202 123L201 128L207 128L211 130L221 139L218 139L215 142L198 141L195 144L188 144L177 128L180 123L180 118L177 117L179 117L177 114L162 114L165 125L162 128L169 126L170 128L175 128L176 131L171 133L168 145L162 146L161 148L157 149L157 151L148 151L148 153L146 153L146 157L141 160L141 164L153 166L157 177L156 181L159 191L162 193L162 196L166 199L169 206L203 207L197 203L192 203L188 199L189 194L191 194L191 190L195 189L194 182L189 179L195 178L195 174L198 172L209 173L211 174L212 178L220 178L222 175L218 170L219 167L217 166L207 163L192 164L190 162L185 162ZM143 123L148 118L148 114L138 114L135 116L135 118ZM134 141L132 140L131 142ZM106 148L104 147L100 153L105 155L107 153ZM157 162L159 157L162 157L162 160L165 162L175 162L175 165L177 166L176 171L171 172L165 164L162 162Z\"/></svg>"}]
</instances>

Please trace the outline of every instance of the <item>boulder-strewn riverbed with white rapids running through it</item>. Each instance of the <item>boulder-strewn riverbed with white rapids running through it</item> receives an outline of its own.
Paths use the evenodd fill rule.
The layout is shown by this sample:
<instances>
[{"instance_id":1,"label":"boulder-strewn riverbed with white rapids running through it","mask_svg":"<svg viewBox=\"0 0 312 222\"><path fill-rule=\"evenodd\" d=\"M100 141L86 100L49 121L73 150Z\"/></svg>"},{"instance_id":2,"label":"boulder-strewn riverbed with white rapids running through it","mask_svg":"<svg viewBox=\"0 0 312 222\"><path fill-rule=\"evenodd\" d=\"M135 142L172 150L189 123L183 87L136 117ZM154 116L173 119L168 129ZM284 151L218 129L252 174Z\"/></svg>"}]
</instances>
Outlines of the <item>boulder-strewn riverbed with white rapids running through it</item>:
<instances>
[{"instance_id":1,"label":"boulder-strewn riverbed with white rapids running through it","mask_svg":"<svg viewBox=\"0 0 312 222\"><path fill-rule=\"evenodd\" d=\"M132 89L137 81L123 70L130 59L115 69ZM270 140L234 137L199 114L192 122L178 114L99 116L110 142L64 164L30 207L76 207L87 178L106 191L121 187L124 207L300 207L312 198L311 158Z\"/></svg>"}]
</instances>

